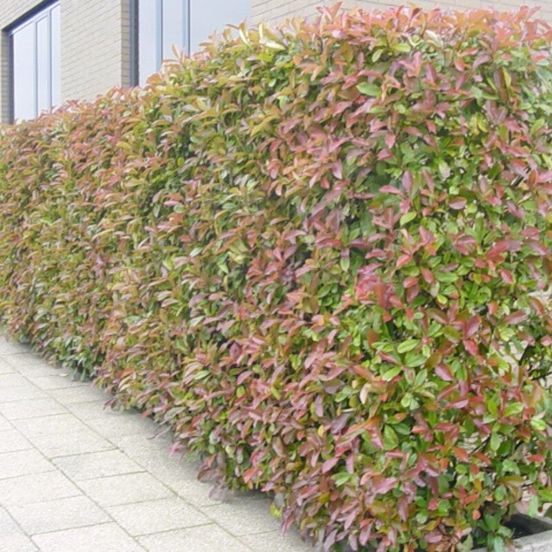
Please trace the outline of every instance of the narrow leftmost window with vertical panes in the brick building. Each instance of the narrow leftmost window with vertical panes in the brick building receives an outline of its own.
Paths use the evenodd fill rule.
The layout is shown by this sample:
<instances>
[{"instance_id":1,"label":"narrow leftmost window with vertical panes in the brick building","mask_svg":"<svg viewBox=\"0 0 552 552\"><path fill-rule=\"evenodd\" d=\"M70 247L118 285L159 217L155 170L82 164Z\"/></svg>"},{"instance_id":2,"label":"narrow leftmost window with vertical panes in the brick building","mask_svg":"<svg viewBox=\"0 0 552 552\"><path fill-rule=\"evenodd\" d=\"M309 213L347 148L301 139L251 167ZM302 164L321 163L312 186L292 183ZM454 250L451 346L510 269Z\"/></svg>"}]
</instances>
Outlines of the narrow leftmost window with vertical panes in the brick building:
<instances>
[{"instance_id":1,"label":"narrow leftmost window with vertical panes in the brick building","mask_svg":"<svg viewBox=\"0 0 552 552\"><path fill-rule=\"evenodd\" d=\"M10 31L14 119L32 119L60 101L59 3Z\"/></svg>"}]
</instances>

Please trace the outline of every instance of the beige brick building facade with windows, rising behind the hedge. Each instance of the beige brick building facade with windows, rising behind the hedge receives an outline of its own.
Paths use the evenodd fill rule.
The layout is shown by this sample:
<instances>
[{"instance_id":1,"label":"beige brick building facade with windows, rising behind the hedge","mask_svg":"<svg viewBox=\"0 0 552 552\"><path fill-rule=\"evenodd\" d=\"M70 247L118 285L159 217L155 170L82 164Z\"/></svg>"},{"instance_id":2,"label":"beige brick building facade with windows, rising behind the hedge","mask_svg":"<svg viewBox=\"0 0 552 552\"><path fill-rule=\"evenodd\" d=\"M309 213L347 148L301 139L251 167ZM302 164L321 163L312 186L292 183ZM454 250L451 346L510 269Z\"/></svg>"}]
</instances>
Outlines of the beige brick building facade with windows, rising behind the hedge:
<instances>
[{"instance_id":1,"label":"beige brick building facade with windows, rising behind the hedge","mask_svg":"<svg viewBox=\"0 0 552 552\"><path fill-rule=\"evenodd\" d=\"M278 23L309 17L335 0L0 0L0 120L30 119L70 99L93 99L112 86L143 84L172 57L193 52L216 29L248 19ZM344 7L401 0L345 0ZM423 8L495 6L533 0L418 0ZM552 21L552 0L540 17Z\"/></svg>"}]
</instances>

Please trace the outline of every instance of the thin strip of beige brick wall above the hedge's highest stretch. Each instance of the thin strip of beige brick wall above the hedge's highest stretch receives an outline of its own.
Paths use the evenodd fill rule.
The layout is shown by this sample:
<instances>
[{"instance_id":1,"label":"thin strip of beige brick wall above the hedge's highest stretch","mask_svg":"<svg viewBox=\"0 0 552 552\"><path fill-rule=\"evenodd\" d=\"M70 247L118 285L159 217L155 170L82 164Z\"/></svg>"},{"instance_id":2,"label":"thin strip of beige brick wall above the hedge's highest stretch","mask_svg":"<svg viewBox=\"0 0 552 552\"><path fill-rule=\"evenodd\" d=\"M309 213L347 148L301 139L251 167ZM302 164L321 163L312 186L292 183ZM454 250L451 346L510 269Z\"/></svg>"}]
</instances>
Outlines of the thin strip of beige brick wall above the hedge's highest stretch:
<instances>
[{"instance_id":1,"label":"thin strip of beige brick wall above the hedge's highest stretch","mask_svg":"<svg viewBox=\"0 0 552 552\"><path fill-rule=\"evenodd\" d=\"M316 13L317 6L333 6L335 0L251 0L251 22L277 23L288 17L305 17ZM451 8L464 10L473 8L497 8L498 10L516 10L520 6L540 6L537 17L552 22L552 0L417 0L421 8ZM344 7L385 8L408 4L404 0L345 0Z\"/></svg>"}]
</instances>

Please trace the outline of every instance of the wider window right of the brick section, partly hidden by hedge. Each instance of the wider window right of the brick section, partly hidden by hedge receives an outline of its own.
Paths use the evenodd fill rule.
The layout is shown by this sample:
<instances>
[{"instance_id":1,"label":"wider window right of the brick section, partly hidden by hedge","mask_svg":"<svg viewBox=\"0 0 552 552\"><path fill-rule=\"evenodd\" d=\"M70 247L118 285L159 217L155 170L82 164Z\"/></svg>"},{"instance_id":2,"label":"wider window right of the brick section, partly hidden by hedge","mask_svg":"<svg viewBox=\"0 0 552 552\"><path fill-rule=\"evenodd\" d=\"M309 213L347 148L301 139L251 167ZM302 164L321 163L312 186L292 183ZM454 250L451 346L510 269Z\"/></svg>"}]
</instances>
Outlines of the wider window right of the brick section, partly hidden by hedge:
<instances>
[{"instance_id":1,"label":"wider window right of the brick section, partly hidden by hedge","mask_svg":"<svg viewBox=\"0 0 552 552\"><path fill-rule=\"evenodd\" d=\"M249 13L250 0L136 0L134 81L141 86L174 57L172 47L194 51L215 30L240 23Z\"/></svg>"}]
</instances>

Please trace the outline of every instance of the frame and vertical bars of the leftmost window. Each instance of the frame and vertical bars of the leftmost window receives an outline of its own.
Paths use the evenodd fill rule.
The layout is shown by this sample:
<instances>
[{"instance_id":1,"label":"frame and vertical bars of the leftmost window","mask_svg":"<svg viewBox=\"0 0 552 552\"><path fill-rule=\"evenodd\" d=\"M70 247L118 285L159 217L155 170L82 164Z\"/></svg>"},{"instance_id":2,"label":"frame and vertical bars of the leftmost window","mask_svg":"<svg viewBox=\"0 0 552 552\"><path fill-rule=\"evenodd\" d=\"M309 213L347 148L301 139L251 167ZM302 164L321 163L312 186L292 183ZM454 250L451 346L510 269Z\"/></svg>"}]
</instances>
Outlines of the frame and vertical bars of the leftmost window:
<instances>
[{"instance_id":1,"label":"frame and vertical bars of the leftmost window","mask_svg":"<svg viewBox=\"0 0 552 552\"><path fill-rule=\"evenodd\" d=\"M38 63L38 23L43 19L47 20L48 28L48 109L55 107L53 105L53 59L52 59L52 39L53 39L53 23L52 23L52 11L55 8L60 8L59 0L48 0L45 2L39 3L33 10L23 14L16 21L14 21L5 32L8 36L8 67L9 67L9 95L8 95L8 115L10 122L15 120L15 48L14 48L14 34L19 30L26 28L29 25L32 25L32 35L33 35L33 68L32 74L34 79L34 88L32 90L34 96L33 103L33 118L38 117L41 112L39 112L39 90L38 90L38 77L39 77L39 63ZM59 37L61 42L61 36ZM61 60L60 60L61 61ZM61 75L60 75L61 77Z\"/></svg>"}]
</instances>

